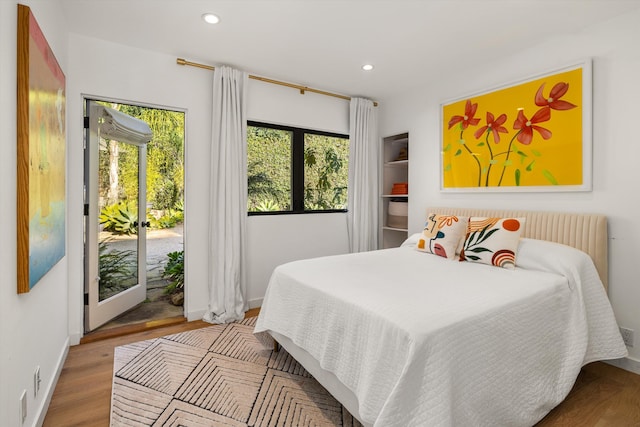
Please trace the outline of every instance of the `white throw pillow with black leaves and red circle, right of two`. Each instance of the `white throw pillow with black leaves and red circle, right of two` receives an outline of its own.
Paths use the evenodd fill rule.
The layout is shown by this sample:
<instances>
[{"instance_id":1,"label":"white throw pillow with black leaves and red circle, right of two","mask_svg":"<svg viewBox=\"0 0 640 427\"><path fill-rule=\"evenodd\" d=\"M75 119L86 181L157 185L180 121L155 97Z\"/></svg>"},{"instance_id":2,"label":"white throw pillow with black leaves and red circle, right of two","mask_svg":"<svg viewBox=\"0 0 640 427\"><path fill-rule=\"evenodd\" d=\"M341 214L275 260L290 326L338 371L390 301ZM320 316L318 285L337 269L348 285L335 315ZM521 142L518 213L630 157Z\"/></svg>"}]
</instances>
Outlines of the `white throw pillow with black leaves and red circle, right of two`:
<instances>
[{"instance_id":1,"label":"white throw pillow with black leaves and red circle, right of two","mask_svg":"<svg viewBox=\"0 0 640 427\"><path fill-rule=\"evenodd\" d=\"M471 217L460 261L513 269L525 218Z\"/></svg>"}]
</instances>

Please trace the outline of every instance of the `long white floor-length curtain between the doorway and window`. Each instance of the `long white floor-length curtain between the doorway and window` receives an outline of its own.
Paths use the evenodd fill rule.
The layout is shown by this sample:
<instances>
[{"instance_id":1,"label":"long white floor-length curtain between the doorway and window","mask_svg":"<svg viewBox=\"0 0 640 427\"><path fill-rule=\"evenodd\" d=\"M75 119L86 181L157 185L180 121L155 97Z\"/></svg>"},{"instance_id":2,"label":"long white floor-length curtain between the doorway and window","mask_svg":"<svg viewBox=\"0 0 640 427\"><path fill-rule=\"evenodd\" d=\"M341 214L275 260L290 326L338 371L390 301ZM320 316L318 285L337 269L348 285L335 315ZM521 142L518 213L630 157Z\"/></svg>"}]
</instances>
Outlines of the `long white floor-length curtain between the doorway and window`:
<instances>
[{"instance_id":1,"label":"long white floor-length curtain between the doorway and window","mask_svg":"<svg viewBox=\"0 0 640 427\"><path fill-rule=\"evenodd\" d=\"M247 218L247 73L216 67L209 209L209 308L204 320L244 318Z\"/></svg>"}]
</instances>

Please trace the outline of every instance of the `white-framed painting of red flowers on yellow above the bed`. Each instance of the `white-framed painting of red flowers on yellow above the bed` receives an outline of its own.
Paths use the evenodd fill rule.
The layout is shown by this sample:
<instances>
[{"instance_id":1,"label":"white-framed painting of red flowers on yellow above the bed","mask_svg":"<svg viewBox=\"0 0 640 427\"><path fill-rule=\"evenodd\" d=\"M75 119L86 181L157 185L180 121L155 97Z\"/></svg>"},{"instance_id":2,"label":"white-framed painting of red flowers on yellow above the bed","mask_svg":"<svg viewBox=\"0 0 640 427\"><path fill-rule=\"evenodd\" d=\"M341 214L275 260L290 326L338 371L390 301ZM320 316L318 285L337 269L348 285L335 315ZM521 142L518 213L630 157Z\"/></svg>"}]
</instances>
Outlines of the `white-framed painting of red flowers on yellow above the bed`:
<instances>
[{"instance_id":1,"label":"white-framed painting of red flowers on yellow above the bed","mask_svg":"<svg viewBox=\"0 0 640 427\"><path fill-rule=\"evenodd\" d=\"M441 105L441 191L591 191L591 61Z\"/></svg>"}]
</instances>

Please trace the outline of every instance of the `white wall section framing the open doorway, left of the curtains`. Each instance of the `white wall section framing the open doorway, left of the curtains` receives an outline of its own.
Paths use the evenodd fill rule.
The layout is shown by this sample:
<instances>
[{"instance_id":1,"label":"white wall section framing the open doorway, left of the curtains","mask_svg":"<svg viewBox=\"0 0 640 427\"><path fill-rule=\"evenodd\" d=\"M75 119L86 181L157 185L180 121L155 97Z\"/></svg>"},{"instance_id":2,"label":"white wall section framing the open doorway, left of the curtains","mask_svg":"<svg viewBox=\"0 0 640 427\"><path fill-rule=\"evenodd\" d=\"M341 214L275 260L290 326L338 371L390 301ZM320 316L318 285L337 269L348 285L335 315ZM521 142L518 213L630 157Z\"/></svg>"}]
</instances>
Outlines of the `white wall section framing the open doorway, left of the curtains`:
<instances>
[{"instance_id":1,"label":"white wall section framing the open doorway, left of the curtains","mask_svg":"<svg viewBox=\"0 0 640 427\"><path fill-rule=\"evenodd\" d=\"M207 71L179 67L175 58L132 49L71 34L69 37L68 75L68 159L69 159L69 315L72 344L83 331L83 97L113 98L131 103L165 106L186 111L186 174L185 174L185 275L188 281L187 310L202 308L206 289L190 286L206 279L205 238L206 193L208 170L207 126L211 102L211 78ZM204 188L203 188L204 187Z\"/></svg>"}]
</instances>

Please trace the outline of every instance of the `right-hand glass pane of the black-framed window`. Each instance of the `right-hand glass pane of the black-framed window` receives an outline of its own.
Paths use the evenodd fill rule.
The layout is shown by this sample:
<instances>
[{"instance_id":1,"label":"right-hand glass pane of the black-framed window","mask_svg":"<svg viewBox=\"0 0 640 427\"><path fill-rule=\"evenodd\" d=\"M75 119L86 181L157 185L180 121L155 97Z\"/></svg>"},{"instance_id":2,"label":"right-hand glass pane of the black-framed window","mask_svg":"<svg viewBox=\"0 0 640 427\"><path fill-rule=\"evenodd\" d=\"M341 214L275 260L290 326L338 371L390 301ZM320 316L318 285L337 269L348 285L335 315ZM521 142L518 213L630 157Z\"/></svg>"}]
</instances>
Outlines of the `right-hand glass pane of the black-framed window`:
<instances>
[{"instance_id":1,"label":"right-hand glass pane of the black-framed window","mask_svg":"<svg viewBox=\"0 0 640 427\"><path fill-rule=\"evenodd\" d=\"M323 135L304 137L304 209L346 209L349 140Z\"/></svg>"}]
</instances>

